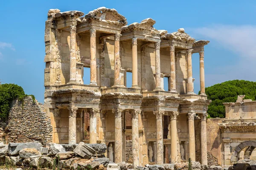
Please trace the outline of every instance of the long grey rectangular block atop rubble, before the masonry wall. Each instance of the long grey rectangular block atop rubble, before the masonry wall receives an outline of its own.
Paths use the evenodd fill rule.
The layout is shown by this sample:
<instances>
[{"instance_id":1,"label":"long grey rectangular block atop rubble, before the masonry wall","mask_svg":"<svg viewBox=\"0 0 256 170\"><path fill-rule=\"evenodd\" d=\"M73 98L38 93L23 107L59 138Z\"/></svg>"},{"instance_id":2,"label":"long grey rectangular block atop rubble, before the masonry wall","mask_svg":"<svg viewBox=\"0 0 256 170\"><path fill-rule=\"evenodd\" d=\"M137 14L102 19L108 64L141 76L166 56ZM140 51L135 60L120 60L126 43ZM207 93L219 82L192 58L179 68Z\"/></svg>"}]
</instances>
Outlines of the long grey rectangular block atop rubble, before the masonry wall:
<instances>
[{"instance_id":1,"label":"long grey rectangular block atop rubble, before the masonry wall","mask_svg":"<svg viewBox=\"0 0 256 170\"><path fill-rule=\"evenodd\" d=\"M20 150L25 148L35 148L40 150L42 144L40 142L27 142L27 143L9 143L8 151L10 156L14 156L20 153Z\"/></svg>"}]
</instances>

